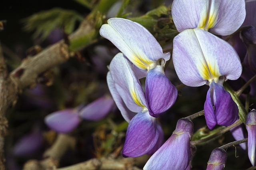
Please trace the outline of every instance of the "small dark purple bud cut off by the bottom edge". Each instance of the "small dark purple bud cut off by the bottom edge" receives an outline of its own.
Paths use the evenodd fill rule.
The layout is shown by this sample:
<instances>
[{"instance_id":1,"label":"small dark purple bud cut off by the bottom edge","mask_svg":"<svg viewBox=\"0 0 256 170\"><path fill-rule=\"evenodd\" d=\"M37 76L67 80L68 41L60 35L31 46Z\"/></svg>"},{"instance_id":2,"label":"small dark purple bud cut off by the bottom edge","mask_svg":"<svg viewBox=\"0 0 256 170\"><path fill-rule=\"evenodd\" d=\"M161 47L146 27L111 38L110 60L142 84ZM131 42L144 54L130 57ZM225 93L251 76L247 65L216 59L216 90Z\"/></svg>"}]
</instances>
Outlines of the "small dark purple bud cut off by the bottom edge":
<instances>
[{"instance_id":1,"label":"small dark purple bud cut off by the bottom edge","mask_svg":"<svg viewBox=\"0 0 256 170\"><path fill-rule=\"evenodd\" d=\"M216 148L212 151L206 170L223 170L226 166L227 152Z\"/></svg>"}]
</instances>

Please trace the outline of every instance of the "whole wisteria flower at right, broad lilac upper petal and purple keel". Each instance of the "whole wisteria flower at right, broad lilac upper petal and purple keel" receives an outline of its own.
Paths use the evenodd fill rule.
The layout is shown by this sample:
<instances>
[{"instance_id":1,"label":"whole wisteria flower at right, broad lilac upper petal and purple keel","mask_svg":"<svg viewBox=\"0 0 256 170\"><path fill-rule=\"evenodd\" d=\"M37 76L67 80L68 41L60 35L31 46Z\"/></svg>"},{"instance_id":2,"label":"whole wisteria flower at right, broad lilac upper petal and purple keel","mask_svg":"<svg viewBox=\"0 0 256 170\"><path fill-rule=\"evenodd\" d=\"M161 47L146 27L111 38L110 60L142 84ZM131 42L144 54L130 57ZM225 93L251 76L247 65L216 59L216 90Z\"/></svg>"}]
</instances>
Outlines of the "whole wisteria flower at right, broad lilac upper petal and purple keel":
<instances>
[{"instance_id":1,"label":"whole wisteria flower at right, broad lilac upper petal and purple keel","mask_svg":"<svg viewBox=\"0 0 256 170\"><path fill-rule=\"evenodd\" d=\"M185 85L210 85L204 104L210 129L216 124L232 125L238 119L238 107L223 87L224 81L238 79L242 73L240 59L230 44L204 30L188 29L174 38L173 62Z\"/></svg>"}]
</instances>

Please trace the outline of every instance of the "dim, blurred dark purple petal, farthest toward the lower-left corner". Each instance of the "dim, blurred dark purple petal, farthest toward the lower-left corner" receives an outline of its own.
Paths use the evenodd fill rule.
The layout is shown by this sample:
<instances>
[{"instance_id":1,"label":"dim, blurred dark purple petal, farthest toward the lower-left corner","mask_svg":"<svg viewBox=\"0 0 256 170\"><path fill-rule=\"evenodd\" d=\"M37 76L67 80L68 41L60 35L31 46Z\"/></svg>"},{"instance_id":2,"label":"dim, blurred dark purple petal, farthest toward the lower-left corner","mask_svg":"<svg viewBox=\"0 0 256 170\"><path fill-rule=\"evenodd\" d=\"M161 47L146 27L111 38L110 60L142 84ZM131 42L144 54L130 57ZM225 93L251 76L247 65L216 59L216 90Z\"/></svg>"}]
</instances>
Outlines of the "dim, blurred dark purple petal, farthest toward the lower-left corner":
<instances>
[{"instance_id":1,"label":"dim, blurred dark purple petal, farthest toward the lower-left corner","mask_svg":"<svg viewBox=\"0 0 256 170\"><path fill-rule=\"evenodd\" d=\"M14 146L14 156L30 156L42 146L42 132L32 132L23 136Z\"/></svg>"}]
</instances>

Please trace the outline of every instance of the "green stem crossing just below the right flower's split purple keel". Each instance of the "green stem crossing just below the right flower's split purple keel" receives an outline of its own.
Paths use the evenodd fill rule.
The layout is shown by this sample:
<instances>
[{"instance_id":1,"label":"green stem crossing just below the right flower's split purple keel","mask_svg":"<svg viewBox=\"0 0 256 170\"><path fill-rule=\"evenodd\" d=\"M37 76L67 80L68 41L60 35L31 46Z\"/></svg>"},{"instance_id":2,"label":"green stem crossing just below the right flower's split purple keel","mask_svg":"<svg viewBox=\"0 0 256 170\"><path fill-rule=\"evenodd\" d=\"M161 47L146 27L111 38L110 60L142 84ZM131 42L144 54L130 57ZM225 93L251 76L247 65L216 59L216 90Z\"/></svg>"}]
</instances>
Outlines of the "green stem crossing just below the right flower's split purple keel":
<instances>
[{"instance_id":1,"label":"green stem crossing just below the right flower's split purple keel","mask_svg":"<svg viewBox=\"0 0 256 170\"><path fill-rule=\"evenodd\" d=\"M195 141L191 141L190 144L191 145L198 145L201 143L206 143L206 142L210 142L210 140L213 140L215 138L217 138L218 136L220 136L221 134L224 134L225 132L227 132L228 130L230 130L233 127L236 127L238 125L242 124L242 121L239 119L238 121L236 121L234 124L228 126L228 127L220 127L220 130L216 133L210 134L209 136L206 136L202 139L199 140L195 140Z\"/></svg>"}]
</instances>

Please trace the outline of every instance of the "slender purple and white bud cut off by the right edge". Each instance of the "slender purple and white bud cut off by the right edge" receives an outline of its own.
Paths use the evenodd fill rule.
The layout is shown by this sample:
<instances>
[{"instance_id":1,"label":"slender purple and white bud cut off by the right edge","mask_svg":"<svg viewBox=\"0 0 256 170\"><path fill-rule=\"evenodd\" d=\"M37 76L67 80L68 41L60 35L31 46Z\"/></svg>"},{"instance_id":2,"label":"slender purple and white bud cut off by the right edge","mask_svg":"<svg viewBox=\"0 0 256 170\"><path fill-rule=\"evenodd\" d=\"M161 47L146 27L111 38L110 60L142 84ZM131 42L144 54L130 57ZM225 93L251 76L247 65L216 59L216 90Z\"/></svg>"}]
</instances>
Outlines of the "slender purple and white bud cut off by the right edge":
<instances>
[{"instance_id":1,"label":"slender purple and white bud cut off by the right edge","mask_svg":"<svg viewBox=\"0 0 256 170\"><path fill-rule=\"evenodd\" d=\"M248 156L253 166L256 165L256 110L253 109L246 117L248 131Z\"/></svg>"}]
</instances>

